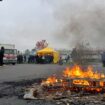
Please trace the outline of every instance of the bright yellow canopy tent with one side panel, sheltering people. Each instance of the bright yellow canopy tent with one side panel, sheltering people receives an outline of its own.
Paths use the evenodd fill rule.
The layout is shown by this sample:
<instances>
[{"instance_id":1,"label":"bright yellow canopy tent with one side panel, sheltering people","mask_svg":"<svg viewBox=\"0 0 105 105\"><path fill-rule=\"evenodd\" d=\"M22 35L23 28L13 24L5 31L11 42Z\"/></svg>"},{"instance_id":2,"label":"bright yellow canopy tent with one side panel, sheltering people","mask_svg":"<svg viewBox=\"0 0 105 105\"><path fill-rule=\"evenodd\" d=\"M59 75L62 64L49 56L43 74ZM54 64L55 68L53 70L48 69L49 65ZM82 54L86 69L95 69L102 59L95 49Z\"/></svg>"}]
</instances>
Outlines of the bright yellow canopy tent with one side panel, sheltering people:
<instances>
[{"instance_id":1,"label":"bright yellow canopy tent with one side panel, sheltering people","mask_svg":"<svg viewBox=\"0 0 105 105\"><path fill-rule=\"evenodd\" d=\"M42 55L44 55L44 54L53 54L53 57L54 57L53 62L54 63L58 63L59 62L59 52L55 51L53 48L49 48L49 47L44 48L42 50L39 50L37 52L37 54L42 54Z\"/></svg>"}]
</instances>

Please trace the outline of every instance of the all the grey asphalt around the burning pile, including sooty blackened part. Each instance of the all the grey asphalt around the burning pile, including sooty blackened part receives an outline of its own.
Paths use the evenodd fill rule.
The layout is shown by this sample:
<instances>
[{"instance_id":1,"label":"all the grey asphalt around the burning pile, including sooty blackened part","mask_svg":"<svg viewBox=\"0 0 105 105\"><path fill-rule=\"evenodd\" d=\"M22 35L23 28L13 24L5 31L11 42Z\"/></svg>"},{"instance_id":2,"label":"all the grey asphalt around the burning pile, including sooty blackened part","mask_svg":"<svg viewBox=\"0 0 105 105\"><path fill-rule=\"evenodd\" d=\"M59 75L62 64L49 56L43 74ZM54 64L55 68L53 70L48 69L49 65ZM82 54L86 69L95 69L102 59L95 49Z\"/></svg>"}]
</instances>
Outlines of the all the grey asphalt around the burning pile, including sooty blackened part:
<instances>
[{"instance_id":1,"label":"all the grey asphalt around the burning pile, including sooty blackened part","mask_svg":"<svg viewBox=\"0 0 105 105\"><path fill-rule=\"evenodd\" d=\"M0 67L0 105L55 105L45 101L23 100L23 88L40 82L52 74L60 74L65 65L20 64ZM102 64L93 65L95 70L105 73Z\"/></svg>"}]
</instances>

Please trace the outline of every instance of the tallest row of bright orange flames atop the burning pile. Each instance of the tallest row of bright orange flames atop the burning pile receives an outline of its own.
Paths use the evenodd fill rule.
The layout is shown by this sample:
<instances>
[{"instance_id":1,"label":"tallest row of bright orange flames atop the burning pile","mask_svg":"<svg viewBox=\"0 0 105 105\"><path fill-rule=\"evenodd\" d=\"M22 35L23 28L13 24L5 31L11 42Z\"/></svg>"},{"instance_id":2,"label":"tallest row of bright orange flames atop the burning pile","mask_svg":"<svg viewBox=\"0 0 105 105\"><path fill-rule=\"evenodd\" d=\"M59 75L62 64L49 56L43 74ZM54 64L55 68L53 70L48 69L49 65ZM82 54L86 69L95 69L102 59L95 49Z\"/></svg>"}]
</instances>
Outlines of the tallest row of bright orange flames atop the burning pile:
<instances>
[{"instance_id":1,"label":"tallest row of bright orange flames atop the burning pile","mask_svg":"<svg viewBox=\"0 0 105 105\"><path fill-rule=\"evenodd\" d=\"M100 74L93 71L93 67L89 66L87 70L83 70L79 65L75 65L72 68L64 70L63 75L70 78L90 78L101 79L105 78L104 74Z\"/></svg>"}]
</instances>

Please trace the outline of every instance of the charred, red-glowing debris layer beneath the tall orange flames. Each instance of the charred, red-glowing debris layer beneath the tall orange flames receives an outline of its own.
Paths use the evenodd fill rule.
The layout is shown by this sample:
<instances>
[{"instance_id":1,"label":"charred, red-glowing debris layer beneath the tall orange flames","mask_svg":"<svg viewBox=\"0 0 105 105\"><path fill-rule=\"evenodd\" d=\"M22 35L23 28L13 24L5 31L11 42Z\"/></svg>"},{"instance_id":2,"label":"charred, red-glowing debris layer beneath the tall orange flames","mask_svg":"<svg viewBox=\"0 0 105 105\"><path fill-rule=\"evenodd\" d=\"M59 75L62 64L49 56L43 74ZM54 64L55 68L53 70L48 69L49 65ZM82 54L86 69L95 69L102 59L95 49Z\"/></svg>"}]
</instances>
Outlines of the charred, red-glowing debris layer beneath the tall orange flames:
<instances>
[{"instance_id":1,"label":"charred, red-glowing debris layer beneath the tall orange flames","mask_svg":"<svg viewBox=\"0 0 105 105\"><path fill-rule=\"evenodd\" d=\"M44 91L85 91L85 92L105 92L105 80L100 79L63 79L62 82L57 82L55 84L43 84Z\"/></svg>"}]
</instances>

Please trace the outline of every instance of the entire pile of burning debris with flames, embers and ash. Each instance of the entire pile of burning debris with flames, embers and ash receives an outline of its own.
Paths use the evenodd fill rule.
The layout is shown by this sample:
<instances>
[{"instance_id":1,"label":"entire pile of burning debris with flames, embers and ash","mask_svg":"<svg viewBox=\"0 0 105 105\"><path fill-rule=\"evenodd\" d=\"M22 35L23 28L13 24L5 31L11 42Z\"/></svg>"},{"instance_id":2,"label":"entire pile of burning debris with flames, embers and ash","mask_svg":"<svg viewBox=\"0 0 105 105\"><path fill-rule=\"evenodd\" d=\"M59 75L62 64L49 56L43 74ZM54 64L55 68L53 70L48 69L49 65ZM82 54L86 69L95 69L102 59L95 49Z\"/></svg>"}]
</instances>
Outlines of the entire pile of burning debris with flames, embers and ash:
<instances>
[{"instance_id":1,"label":"entire pile of burning debris with flames, embers and ash","mask_svg":"<svg viewBox=\"0 0 105 105\"><path fill-rule=\"evenodd\" d=\"M101 98L96 96L97 93ZM52 75L42 80L41 84L33 84L25 90L24 99L56 100L57 104L68 105L78 99L99 105L105 98L104 94L100 93L105 93L105 75L94 72L91 66L83 70L75 65L64 70L63 75L59 77Z\"/></svg>"}]
</instances>

